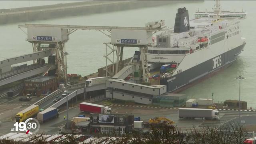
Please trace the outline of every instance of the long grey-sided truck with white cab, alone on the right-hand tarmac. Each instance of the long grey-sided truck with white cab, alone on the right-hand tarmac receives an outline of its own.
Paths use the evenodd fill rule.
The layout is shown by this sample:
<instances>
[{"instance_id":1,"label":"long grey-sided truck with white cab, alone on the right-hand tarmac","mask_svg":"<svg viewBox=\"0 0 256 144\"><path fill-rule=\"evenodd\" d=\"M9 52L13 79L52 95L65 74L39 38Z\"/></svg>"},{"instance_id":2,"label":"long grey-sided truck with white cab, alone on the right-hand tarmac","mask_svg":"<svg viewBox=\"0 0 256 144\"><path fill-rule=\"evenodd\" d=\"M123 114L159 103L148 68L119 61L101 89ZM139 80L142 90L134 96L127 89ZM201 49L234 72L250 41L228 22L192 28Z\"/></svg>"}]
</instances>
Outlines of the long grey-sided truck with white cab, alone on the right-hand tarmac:
<instances>
[{"instance_id":1,"label":"long grey-sided truck with white cab, alone on the right-hand tarmac","mask_svg":"<svg viewBox=\"0 0 256 144\"><path fill-rule=\"evenodd\" d=\"M211 120L219 120L220 114L218 110L205 108L179 108L179 118L205 118Z\"/></svg>"}]
</instances>

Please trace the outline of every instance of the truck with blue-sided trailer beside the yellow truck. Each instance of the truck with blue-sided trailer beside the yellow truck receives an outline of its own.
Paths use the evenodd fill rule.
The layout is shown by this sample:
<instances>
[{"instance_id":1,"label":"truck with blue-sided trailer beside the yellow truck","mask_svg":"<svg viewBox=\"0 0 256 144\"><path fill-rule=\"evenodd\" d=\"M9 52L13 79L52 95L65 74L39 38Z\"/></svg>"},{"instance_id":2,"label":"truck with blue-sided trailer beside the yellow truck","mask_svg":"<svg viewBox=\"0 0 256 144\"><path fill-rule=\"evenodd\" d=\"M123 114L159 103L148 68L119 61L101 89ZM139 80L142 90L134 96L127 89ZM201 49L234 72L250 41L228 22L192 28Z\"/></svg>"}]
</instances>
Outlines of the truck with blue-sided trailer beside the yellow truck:
<instances>
[{"instance_id":1,"label":"truck with blue-sided trailer beside the yellow truck","mask_svg":"<svg viewBox=\"0 0 256 144\"><path fill-rule=\"evenodd\" d=\"M60 115L57 108L47 108L46 110L39 112L37 114L37 120L40 123L46 122L47 120L58 118Z\"/></svg>"}]
</instances>

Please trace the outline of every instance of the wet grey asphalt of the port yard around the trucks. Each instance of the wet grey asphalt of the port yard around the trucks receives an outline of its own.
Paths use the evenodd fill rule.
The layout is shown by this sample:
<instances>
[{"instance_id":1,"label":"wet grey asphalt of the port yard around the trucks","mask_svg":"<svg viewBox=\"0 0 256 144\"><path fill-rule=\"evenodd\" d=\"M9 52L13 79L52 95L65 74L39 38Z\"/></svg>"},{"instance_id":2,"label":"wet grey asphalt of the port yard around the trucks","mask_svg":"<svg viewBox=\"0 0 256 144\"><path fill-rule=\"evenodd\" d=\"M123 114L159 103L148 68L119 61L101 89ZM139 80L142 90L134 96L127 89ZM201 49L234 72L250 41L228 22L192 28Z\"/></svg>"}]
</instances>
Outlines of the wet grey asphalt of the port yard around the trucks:
<instances>
[{"instance_id":1,"label":"wet grey asphalt of the port yard around the trucks","mask_svg":"<svg viewBox=\"0 0 256 144\"><path fill-rule=\"evenodd\" d=\"M100 102L97 102L100 104ZM220 124L224 124L229 120L238 118L239 112L238 111L228 111L228 110L221 110L220 111L220 120L202 120L202 119L195 119L195 120L186 120L180 119L178 117L178 109L177 108L148 108L147 106L125 106L125 105L117 105L111 106L112 114L134 114L134 117L140 116L141 120L148 122L148 119L156 117L156 116L163 116L169 118L175 122L178 128L182 131L189 130L193 126L196 127L204 127L204 126L219 126ZM79 114L84 114L80 112L79 107L73 107L69 109L69 119L72 117L78 116ZM47 134L55 134L58 128L65 125L63 121L64 116L66 116L66 111L61 112L59 118L53 119L51 121L45 122L40 124L40 131L39 132L46 132ZM253 111L242 111L241 116L256 116L256 112ZM6 134L10 132L10 128L13 127L14 121L12 122L5 122L4 125L0 126L1 132L0 135Z\"/></svg>"}]
</instances>

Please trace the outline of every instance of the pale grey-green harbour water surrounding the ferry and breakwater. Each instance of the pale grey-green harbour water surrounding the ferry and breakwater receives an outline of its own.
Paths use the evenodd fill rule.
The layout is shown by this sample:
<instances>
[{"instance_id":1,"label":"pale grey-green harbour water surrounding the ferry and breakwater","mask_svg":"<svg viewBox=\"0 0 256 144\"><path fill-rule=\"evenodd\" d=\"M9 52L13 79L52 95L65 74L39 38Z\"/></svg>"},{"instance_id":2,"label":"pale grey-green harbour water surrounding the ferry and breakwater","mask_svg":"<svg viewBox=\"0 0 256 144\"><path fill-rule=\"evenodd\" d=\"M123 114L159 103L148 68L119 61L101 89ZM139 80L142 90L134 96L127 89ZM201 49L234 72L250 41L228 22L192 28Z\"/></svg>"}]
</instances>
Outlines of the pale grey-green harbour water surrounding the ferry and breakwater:
<instances>
[{"instance_id":1,"label":"pale grey-green harbour water surrounding the ferry and breakwater","mask_svg":"<svg viewBox=\"0 0 256 144\"><path fill-rule=\"evenodd\" d=\"M62 1L61 1L62 2ZM254 48L256 39L256 20L254 14L256 9L253 7L255 1L220 1L223 10L248 12L247 18L241 20L241 34L246 38L247 44L242 54L238 56L229 68L218 72L218 74L184 90L188 98L212 98L214 101L222 102L227 99L239 99L239 81L234 78L242 75L246 80L241 81L241 100L247 101L247 106L256 108L256 50ZM52 3L50 3L52 4ZM54 3L55 4L55 3ZM104 14L93 14L89 16L73 16L51 20L41 20L26 23L35 24L66 24L66 25L92 25L92 26L144 26L146 22L154 20L166 20L166 26L174 26L174 18L177 9L186 7L190 19L194 18L194 12L199 10L212 10L214 1L204 1L201 3L172 4L157 6L152 8L141 8L137 10L125 10ZM15 6L11 3L10 8ZM7 7L7 6L6 6ZM5 8L6 8L5 7ZM0 7L1 8L1 7ZM25 41L26 34L18 28L19 24L0 25L0 60L32 52L32 44ZM70 40L66 43L66 51L69 53L68 73L77 73L82 76L94 73L105 66L104 42L110 39L98 31L78 30L70 35ZM124 48L124 58L133 56L138 48ZM32 62L31 62L32 63ZM108 62L108 64L110 64Z\"/></svg>"}]
</instances>

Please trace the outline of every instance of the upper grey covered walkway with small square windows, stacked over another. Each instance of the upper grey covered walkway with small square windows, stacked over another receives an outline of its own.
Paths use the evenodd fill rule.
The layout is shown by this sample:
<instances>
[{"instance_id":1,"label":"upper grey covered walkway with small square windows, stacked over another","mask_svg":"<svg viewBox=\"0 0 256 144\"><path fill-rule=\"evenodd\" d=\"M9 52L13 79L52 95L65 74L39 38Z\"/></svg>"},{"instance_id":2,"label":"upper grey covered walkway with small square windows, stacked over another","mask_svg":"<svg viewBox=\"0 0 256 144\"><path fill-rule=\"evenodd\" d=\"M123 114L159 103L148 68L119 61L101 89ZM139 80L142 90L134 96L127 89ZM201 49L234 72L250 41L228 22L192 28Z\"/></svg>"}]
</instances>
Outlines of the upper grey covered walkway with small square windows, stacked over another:
<instances>
[{"instance_id":1,"label":"upper grey covered walkway with small square windows, stacked over another","mask_svg":"<svg viewBox=\"0 0 256 144\"><path fill-rule=\"evenodd\" d=\"M150 95L161 95L166 93L166 85L146 86L143 84L135 84L115 79L106 80L106 87Z\"/></svg>"}]
</instances>

